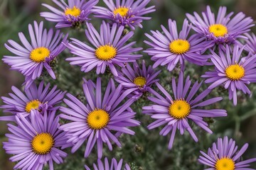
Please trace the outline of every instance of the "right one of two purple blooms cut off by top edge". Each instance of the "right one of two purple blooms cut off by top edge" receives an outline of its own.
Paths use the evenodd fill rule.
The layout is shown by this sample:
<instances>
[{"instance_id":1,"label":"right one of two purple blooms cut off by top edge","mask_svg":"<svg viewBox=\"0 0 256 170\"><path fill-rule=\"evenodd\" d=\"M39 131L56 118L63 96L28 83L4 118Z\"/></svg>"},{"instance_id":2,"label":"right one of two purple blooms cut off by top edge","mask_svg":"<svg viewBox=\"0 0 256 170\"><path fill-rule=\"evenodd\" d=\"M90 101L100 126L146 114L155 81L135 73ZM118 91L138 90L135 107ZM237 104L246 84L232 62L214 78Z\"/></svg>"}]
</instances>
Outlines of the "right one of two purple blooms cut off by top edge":
<instances>
[{"instance_id":1,"label":"right one of two purple blooms cut off by top edge","mask_svg":"<svg viewBox=\"0 0 256 170\"><path fill-rule=\"evenodd\" d=\"M129 26L135 30L136 26L142 28L142 21L149 20L151 17L145 17L146 13L156 11L154 6L146 8L150 0L103 0L107 8L95 6L92 9L95 17L104 18L117 23L118 26Z\"/></svg>"}]
</instances>

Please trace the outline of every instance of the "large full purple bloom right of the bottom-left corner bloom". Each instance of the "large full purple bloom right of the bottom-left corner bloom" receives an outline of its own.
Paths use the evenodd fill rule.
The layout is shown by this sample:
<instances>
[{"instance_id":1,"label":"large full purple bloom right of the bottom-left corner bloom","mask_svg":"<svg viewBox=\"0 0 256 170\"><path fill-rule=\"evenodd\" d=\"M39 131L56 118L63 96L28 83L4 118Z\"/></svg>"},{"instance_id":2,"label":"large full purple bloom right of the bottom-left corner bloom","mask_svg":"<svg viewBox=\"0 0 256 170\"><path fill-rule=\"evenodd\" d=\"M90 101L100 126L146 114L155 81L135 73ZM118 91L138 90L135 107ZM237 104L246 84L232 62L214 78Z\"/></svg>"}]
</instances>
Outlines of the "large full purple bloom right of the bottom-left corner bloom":
<instances>
[{"instance_id":1,"label":"large full purple bloom right of the bottom-left corner bloom","mask_svg":"<svg viewBox=\"0 0 256 170\"><path fill-rule=\"evenodd\" d=\"M63 112L60 118L71 122L60 126L60 129L67 132L68 142L74 144L71 152L78 150L87 140L85 157L89 156L97 143L97 155L101 158L103 143L112 150L112 142L121 147L117 139L119 135L122 133L134 135L134 131L129 130L128 127L137 126L139 122L133 119L136 113L129 106L137 99L129 98L120 104L132 91L122 92L122 85L116 88L112 79L107 84L104 96L102 96L100 78L97 78L96 84L91 80L85 81L83 90L87 100L86 105L71 94L67 94L70 99L63 100L69 108L60 108Z\"/></svg>"}]
</instances>

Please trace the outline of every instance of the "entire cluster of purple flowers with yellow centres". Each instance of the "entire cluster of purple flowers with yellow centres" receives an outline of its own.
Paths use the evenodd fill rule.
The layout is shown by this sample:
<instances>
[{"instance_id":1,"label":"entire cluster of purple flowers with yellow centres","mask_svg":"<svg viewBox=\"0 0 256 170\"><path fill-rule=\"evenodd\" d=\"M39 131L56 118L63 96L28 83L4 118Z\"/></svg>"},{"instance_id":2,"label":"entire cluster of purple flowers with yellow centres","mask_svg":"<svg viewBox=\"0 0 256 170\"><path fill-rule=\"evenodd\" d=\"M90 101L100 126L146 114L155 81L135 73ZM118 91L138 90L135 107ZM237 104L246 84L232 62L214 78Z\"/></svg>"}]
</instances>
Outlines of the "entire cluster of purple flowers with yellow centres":
<instances>
[{"instance_id":1,"label":"entire cluster of purple flowers with yellow centres","mask_svg":"<svg viewBox=\"0 0 256 170\"><path fill-rule=\"evenodd\" d=\"M151 94L148 99L153 104L144 106L142 113L155 119L148 128L151 130L164 125L160 135L171 135L169 149L174 146L177 130L181 135L188 131L198 142L191 122L213 133L203 118L228 115L224 109L202 108L223 99L208 98L212 89L218 86L228 89L229 98L236 105L237 91L250 94L247 84L256 82L256 38L254 34L247 33L254 24L252 18L245 17L244 13L231 18L233 13L226 15L226 8L220 7L215 19L215 14L207 6L206 12L202 13L203 18L198 13L194 16L187 14L188 19L183 21L179 33L176 21L169 19L168 29L161 26L162 31L151 30L151 35L145 34L149 40L144 42L150 47L144 52L154 61L153 66L146 67L144 60L138 62L142 48L134 47L136 42L131 42L131 39L133 30L137 26L142 28L142 21L150 19L144 15L155 11L154 6L146 7L149 0L103 0L107 8L96 6L98 0L52 1L58 8L43 4L51 12L42 12L41 16L57 23L57 29L86 26L87 42L77 38L70 38L69 42L68 34L53 28L46 30L43 22L34 21L33 26L28 25L30 41L23 33L18 33L22 45L14 40L5 44L14 56L4 56L3 61L25 77L24 91L13 86L14 94L9 94L10 98L2 97L4 105L0 106L5 113L11 113L1 116L0 120L16 123L8 124L11 134L6 134L8 142L4 142L6 153L14 155L10 160L18 162L14 169L43 169L45 164L53 169L53 162L63 163L67 157L63 149L71 147L73 153L82 145L85 145L84 157L89 157L96 145L98 165L93 164L94 169L122 169L122 159L117 162L113 158L109 163L105 158L102 162L103 144L111 151L113 145L122 147L120 135L135 134L129 128L140 123L134 120L136 112L131 106L145 93ZM107 23L102 21L97 30L89 23L91 13ZM194 31L192 35L191 29ZM45 86L44 81L36 84L35 80L42 76L42 72L58 79L51 62L65 48L73 54L66 60L78 65L82 72L104 74L110 69L114 76L106 87L102 86L100 77L95 82L84 79L85 103L66 91L57 90L56 86L50 89L50 84ZM244 51L247 51L246 56L243 56ZM186 62L215 67L202 75L206 78L205 83L210 84L208 89L199 93L203 81L192 84L189 77L184 79ZM172 93L158 82L161 71L155 68L159 65L166 65L169 72L180 68L177 81L175 77L171 80ZM65 106L60 106L61 102ZM67 121L60 125L60 118ZM247 145L238 151L235 141L225 137L224 140L218 139L217 144L213 143L208 154L201 152L203 156L198 161L210 169L242 169L256 161L240 162L246 149ZM85 165L85 169L90 168ZM123 169L130 167L125 164Z\"/></svg>"}]
</instances>

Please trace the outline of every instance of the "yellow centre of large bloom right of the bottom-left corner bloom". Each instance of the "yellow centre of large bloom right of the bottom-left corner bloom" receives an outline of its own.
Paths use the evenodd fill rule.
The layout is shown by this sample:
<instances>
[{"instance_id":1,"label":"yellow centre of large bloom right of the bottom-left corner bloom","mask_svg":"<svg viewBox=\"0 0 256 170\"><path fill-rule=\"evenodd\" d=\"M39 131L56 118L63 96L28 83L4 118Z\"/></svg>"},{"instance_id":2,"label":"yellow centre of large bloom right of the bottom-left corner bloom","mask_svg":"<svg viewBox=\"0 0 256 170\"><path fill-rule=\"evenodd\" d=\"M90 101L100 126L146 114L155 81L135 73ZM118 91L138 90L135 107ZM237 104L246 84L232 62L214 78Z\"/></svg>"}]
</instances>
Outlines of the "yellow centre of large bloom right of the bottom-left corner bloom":
<instances>
[{"instance_id":1,"label":"yellow centre of large bloom right of the bottom-left corner bloom","mask_svg":"<svg viewBox=\"0 0 256 170\"><path fill-rule=\"evenodd\" d=\"M87 115L87 124L90 126L90 128L95 130L105 128L109 121L110 115L106 111L99 108L96 108Z\"/></svg>"}]
</instances>

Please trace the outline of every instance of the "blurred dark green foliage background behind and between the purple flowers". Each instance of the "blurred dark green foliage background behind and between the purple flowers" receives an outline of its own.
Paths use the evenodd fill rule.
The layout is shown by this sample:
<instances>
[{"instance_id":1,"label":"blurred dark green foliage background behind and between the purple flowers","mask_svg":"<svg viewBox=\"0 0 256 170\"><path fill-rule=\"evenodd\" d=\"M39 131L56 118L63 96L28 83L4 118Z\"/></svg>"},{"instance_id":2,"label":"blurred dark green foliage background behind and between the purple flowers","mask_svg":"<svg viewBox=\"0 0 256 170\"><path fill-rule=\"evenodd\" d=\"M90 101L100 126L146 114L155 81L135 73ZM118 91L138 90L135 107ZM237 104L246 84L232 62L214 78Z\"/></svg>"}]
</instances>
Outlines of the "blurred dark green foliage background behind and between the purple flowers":
<instances>
[{"instance_id":1,"label":"blurred dark green foliage background behind and between the purple flowers","mask_svg":"<svg viewBox=\"0 0 256 170\"><path fill-rule=\"evenodd\" d=\"M101 1L101 0L100 0ZM18 40L18 32L28 33L28 23L36 21L45 21L39 16L41 11L46 11L46 8L41 6L42 3L53 4L50 0L0 0L0 58L3 55L11 55L10 52L4 47L4 43L9 40ZM206 10L206 5L210 5L215 13L218 11L219 6L227 6L228 11L235 11L238 13L242 11L247 16L251 16L256 20L256 1L255 0L152 0L152 5L156 6L156 12L150 13L150 21L144 21L143 29L137 29L134 35L134 40L137 40L137 46L144 47L143 40L146 39L144 33L149 33L149 30L160 29L160 25L167 25L168 18L176 20L178 28L181 28L183 19L186 17L186 13L193 13L197 11ZM100 2L102 5L102 1ZM100 20L92 18L92 22L96 26L99 26ZM53 23L45 22L45 27L50 28ZM255 32L255 28L252 28L252 32ZM66 33L68 29L63 29ZM76 36L78 33L71 31L70 35ZM85 38L82 36L82 40ZM50 81L53 84L58 84L58 87L63 90L70 91L71 94L79 95L81 91L81 78L85 74L80 73L78 67L71 67L67 62L63 60L63 57L68 56L68 51L65 51L62 58L58 61L58 65L55 67L55 72L60 75L67 74L63 79L52 81L46 77L46 81ZM144 60L149 62L149 57L144 54ZM65 73L65 69L73 68L75 72ZM177 72L166 71L165 67L161 67L163 71L160 74L160 83L165 86L166 89L170 89L170 80L172 76L177 76ZM195 67L188 65L186 67L186 75L191 75L193 81L202 80L200 78L207 68ZM64 71L63 71L64 70ZM88 76L89 75L89 76ZM87 74L87 77L94 74ZM70 81L68 77L77 77L78 79ZM70 81L67 82L67 81ZM8 96L11 92L11 86L20 87L23 83L23 76L18 72L9 70L9 66L0 62L0 96ZM65 86L63 86L65 84ZM206 88L206 86L204 86ZM79 89L79 90L78 90ZM233 107L233 104L228 101L227 92L221 88L215 89L212 96L223 96L225 99L220 103L215 104L215 108L225 108L228 111L227 118L218 118L216 120L208 119L210 128L213 130L214 135L208 135L206 132L193 126L193 129L198 135L199 142L193 142L191 137L186 133L180 136L176 133L176 141L174 143L174 149L169 151L167 145L169 142L169 136L159 136L160 129L147 130L146 125L152 122L149 116L141 114L142 106L149 105L149 102L145 98L140 99L137 103L134 103L134 111L137 111L137 119L142 121L142 126L139 128L133 128L137 132L134 137L124 135L121 137L121 141L124 144L122 149L115 148L113 152L107 152L105 150L105 156L124 158L126 162L132 165L132 169L171 169L171 170L198 170L203 169L204 166L198 164L196 159L199 155L199 150L206 151L211 143L214 142L217 137L223 137L228 135L233 137L238 145L248 142L250 148L244 155L245 159L250 157L256 157L256 85L250 85L252 96L238 95L238 106ZM0 100L0 104L2 101ZM213 108L212 107L212 108ZM3 115L0 110L0 115ZM0 142L6 141L4 134L8 132L6 123L0 122ZM84 148L82 148L84 149ZM90 159L83 159L83 150L70 154L65 159L65 164L55 166L55 169L82 169L83 164L92 164L96 160L96 154L92 153ZM70 150L67 149L70 153ZM0 143L0 169L9 170L12 169L14 163L9 162L10 155L5 154L2 144ZM252 168L256 169L256 164L252 164ZM47 168L46 168L47 169Z\"/></svg>"}]
</instances>

